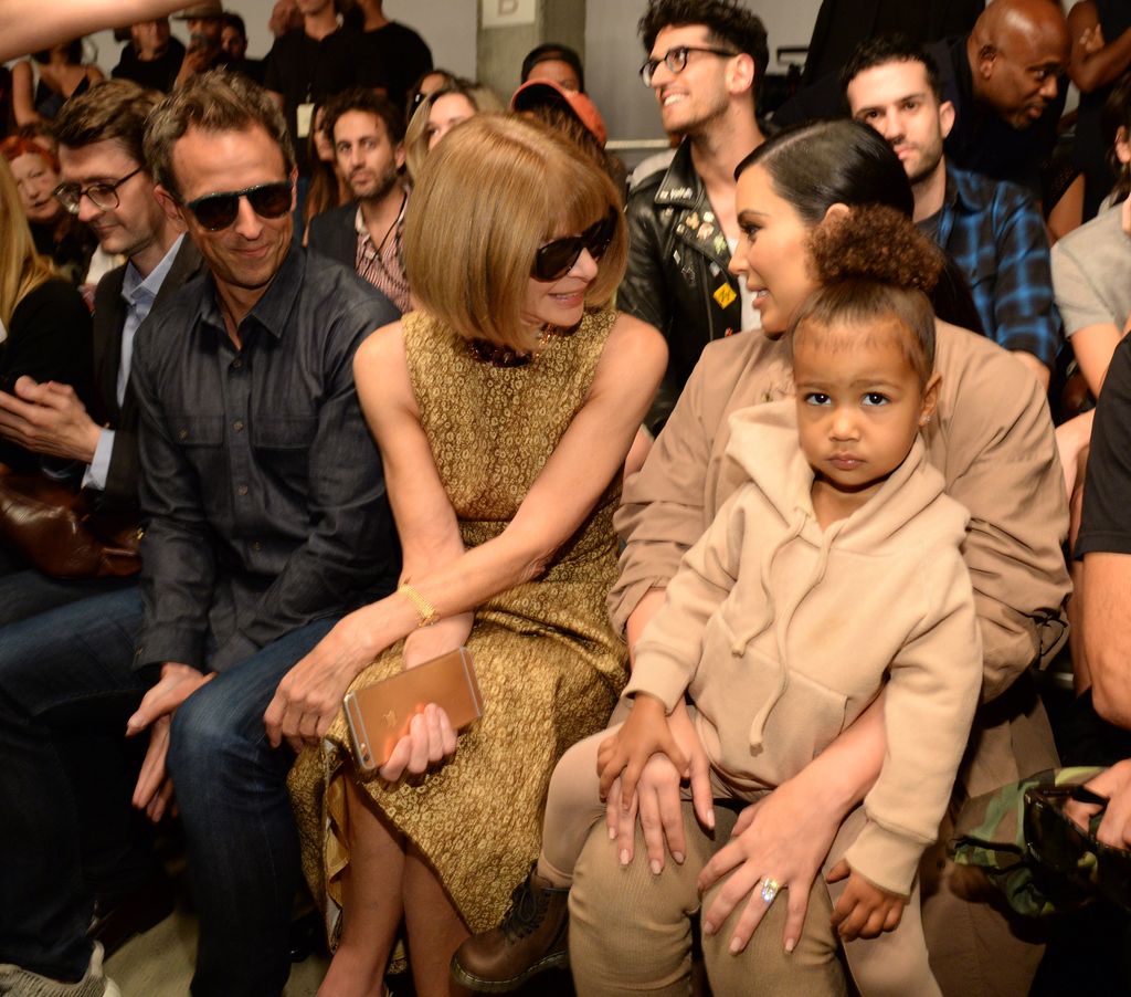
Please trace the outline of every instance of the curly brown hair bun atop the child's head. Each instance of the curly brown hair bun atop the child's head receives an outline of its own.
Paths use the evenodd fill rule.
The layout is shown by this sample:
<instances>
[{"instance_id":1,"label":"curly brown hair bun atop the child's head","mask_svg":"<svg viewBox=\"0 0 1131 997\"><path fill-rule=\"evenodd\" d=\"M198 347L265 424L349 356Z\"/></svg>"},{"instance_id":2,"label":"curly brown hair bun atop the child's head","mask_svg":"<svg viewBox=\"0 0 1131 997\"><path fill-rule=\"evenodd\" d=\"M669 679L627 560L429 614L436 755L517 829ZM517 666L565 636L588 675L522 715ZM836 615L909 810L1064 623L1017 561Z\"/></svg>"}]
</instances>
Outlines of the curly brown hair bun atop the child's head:
<instances>
[{"instance_id":1,"label":"curly brown hair bun atop the child's head","mask_svg":"<svg viewBox=\"0 0 1131 997\"><path fill-rule=\"evenodd\" d=\"M930 294L943 269L942 251L906 215L884 205L854 207L813 229L813 268L824 285L875 281Z\"/></svg>"}]
</instances>

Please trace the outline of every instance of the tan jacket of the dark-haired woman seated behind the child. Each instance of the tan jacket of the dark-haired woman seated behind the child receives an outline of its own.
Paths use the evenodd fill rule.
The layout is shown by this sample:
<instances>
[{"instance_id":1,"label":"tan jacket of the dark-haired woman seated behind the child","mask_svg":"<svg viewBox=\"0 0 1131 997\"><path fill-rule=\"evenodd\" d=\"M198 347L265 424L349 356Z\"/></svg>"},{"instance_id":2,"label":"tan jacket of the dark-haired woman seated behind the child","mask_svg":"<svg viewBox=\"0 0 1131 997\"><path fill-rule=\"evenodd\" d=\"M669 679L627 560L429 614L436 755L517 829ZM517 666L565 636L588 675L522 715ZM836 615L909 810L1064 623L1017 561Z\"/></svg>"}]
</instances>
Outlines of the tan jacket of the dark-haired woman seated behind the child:
<instances>
[{"instance_id":1,"label":"tan jacket of the dark-haired woman seated behind the child","mask_svg":"<svg viewBox=\"0 0 1131 997\"><path fill-rule=\"evenodd\" d=\"M923 432L926 457L970 514L962 553L982 630L983 706L960 772L964 792L976 796L1057 764L1031 687L1019 696L1011 687L1065 635L1068 500L1048 406L1025 367L985 337L939 323L935 369L942 386ZM749 476L727 455L728 416L792 395L782 341L751 333L703 350L644 469L624 485L615 524L625 549L608 600L618 629L649 590L668 584Z\"/></svg>"}]
</instances>

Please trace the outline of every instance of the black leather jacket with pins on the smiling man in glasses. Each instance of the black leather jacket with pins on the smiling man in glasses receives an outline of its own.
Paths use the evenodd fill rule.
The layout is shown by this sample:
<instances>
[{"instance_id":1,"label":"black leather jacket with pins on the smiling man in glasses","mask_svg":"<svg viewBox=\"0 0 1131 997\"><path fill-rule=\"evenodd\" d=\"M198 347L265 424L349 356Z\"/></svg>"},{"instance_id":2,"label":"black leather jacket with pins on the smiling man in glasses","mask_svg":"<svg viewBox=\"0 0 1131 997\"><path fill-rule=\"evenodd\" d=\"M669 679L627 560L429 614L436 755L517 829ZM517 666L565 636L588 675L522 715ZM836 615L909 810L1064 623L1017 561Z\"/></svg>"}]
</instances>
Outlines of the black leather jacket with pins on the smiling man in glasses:
<instances>
[{"instance_id":1,"label":"black leather jacket with pins on the smiling man in glasses","mask_svg":"<svg viewBox=\"0 0 1131 997\"><path fill-rule=\"evenodd\" d=\"M731 250L691 164L684 140L666 171L629 194L629 266L616 307L656 326L667 340L667 373L645 424L659 432L711 340L742 328Z\"/></svg>"}]
</instances>

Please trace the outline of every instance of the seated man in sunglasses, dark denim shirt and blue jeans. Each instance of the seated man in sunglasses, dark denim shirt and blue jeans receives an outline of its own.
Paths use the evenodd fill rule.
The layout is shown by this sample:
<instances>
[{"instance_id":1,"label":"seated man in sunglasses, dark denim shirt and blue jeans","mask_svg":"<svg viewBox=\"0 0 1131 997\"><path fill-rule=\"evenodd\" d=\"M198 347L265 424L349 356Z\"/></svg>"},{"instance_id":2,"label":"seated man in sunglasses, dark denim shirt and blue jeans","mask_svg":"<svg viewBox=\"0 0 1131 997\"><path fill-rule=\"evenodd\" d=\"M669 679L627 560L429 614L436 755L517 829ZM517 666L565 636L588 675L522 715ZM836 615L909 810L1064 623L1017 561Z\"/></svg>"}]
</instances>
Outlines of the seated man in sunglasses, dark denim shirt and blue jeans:
<instances>
[{"instance_id":1,"label":"seated man in sunglasses, dark denim shirt and blue jeans","mask_svg":"<svg viewBox=\"0 0 1131 997\"><path fill-rule=\"evenodd\" d=\"M0 990L106 989L86 936L92 814L132 798L159 820L175 785L200 920L192 992L279 994L301 871L293 755L270 747L264 713L345 612L396 587L353 383L357 345L396 311L293 246L286 124L245 78L187 83L149 115L145 153L206 269L135 344L140 596L0 637L0 963L21 968L0 966ZM111 751L129 754L123 732L145 746L140 775Z\"/></svg>"}]
</instances>

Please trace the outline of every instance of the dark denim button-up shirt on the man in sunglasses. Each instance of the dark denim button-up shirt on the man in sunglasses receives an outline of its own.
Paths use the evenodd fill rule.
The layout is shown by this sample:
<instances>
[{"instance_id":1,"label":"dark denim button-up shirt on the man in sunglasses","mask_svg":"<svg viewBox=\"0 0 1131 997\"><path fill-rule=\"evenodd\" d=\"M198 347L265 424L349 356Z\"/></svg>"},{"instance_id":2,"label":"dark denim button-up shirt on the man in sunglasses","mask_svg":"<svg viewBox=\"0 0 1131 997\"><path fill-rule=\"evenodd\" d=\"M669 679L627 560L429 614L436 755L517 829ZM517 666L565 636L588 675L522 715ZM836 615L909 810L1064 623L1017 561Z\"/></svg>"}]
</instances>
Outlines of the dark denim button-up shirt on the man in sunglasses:
<instances>
[{"instance_id":1,"label":"dark denim button-up shirt on the man in sunglasses","mask_svg":"<svg viewBox=\"0 0 1131 997\"><path fill-rule=\"evenodd\" d=\"M392 590L399 547L353 358L396 317L356 274L292 248L241 347L207 272L138 334L136 667L223 670Z\"/></svg>"}]
</instances>

